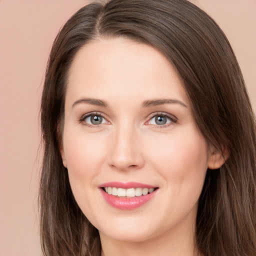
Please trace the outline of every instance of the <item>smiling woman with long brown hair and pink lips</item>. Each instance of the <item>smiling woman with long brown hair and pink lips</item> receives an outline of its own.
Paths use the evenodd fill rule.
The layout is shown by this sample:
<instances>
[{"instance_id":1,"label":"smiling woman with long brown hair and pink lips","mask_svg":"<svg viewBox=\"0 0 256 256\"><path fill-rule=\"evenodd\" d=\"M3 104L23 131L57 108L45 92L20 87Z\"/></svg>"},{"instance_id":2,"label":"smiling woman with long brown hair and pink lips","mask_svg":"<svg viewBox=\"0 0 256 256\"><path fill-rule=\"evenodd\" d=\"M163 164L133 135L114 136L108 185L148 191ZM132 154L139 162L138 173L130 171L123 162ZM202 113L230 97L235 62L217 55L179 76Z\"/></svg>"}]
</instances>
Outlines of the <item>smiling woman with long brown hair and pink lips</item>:
<instances>
[{"instance_id":1,"label":"smiling woman with long brown hair and pink lips","mask_svg":"<svg viewBox=\"0 0 256 256\"><path fill-rule=\"evenodd\" d=\"M186 0L110 0L57 35L41 100L44 255L254 255L255 120Z\"/></svg>"}]
</instances>

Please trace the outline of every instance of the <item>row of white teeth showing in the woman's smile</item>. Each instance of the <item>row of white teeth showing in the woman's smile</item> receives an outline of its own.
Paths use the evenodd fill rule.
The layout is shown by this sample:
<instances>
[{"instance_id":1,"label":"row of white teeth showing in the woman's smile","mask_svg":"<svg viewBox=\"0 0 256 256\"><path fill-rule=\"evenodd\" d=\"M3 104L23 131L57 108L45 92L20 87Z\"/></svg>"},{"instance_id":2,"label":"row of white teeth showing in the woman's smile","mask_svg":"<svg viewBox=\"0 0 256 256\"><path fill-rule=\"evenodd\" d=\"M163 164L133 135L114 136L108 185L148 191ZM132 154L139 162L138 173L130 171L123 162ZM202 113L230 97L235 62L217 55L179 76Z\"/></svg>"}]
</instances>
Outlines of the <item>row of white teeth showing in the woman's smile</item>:
<instances>
[{"instance_id":1,"label":"row of white teeth showing in the woman's smile","mask_svg":"<svg viewBox=\"0 0 256 256\"><path fill-rule=\"evenodd\" d=\"M121 187L104 187L104 190L111 195L116 195L120 197L134 197L134 196L141 196L141 195L146 195L148 193L151 193L154 191L154 188L141 188L141 187L136 187L136 188L121 188Z\"/></svg>"}]
</instances>

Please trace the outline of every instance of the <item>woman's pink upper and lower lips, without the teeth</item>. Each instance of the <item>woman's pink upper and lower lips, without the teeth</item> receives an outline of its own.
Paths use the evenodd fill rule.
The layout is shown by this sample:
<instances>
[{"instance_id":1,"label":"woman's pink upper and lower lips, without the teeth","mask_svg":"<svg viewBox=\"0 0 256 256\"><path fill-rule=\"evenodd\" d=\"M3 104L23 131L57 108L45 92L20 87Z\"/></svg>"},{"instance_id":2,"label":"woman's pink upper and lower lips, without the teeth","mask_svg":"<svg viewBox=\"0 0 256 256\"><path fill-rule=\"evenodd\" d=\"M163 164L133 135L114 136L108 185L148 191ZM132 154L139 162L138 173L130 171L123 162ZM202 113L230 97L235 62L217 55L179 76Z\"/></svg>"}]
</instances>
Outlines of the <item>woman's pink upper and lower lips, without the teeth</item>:
<instances>
[{"instance_id":1,"label":"woman's pink upper and lower lips, without the teeth","mask_svg":"<svg viewBox=\"0 0 256 256\"><path fill-rule=\"evenodd\" d=\"M153 192L146 194L146 195L141 195L141 196L134 196L134 197L118 197L115 195L111 195L106 193L102 187L121 187L121 188L131 188L131 187L147 187L147 188L154 188L152 185L144 184L144 183L138 183L138 182L127 182L127 183L121 183L121 182L107 182L99 185L99 190L103 196L103 198L108 202L111 206L122 209L122 210L132 210L135 209L148 200L150 200L154 195L155 192L158 190L154 190Z\"/></svg>"}]
</instances>

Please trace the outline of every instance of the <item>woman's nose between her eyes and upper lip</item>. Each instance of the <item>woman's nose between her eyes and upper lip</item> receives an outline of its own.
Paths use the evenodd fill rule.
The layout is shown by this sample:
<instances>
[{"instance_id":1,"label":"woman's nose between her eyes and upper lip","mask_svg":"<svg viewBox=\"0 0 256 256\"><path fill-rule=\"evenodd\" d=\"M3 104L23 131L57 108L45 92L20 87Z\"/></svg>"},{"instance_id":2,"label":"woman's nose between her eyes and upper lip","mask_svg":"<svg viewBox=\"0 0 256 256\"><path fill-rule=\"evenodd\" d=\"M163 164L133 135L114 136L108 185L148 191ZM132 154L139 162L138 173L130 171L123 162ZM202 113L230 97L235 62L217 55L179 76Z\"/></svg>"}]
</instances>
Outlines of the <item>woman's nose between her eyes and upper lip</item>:
<instances>
[{"instance_id":1,"label":"woman's nose between her eyes and upper lip","mask_svg":"<svg viewBox=\"0 0 256 256\"><path fill-rule=\"evenodd\" d=\"M140 142L138 132L131 125L116 128L111 136L108 164L117 170L141 168L144 165L144 158Z\"/></svg>"}]
</instances>

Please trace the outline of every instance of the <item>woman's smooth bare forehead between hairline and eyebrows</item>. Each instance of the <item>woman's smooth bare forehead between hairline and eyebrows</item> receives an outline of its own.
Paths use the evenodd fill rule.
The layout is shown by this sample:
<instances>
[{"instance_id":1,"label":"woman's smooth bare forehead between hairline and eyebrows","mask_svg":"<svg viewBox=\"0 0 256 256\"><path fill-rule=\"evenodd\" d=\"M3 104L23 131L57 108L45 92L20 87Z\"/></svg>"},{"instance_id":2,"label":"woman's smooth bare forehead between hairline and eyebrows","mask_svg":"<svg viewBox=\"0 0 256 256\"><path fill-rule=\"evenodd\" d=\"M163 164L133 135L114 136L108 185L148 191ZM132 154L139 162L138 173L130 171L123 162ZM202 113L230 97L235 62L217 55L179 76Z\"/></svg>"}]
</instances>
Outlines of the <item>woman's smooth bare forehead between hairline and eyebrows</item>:
<instances>
[{"instance_id":1,"label":"woman's smooth bare forehead between hairline and eyebrows","mask_svg":"<svg viewBox=\"0 0 256 256\"><path fill-rule=\"evenodd\" d=\"M147 44L121 37L99 39L77 52L69 69L67 96L116 99L132 93L144 98L178 96L188 103L174 68Z\"/></svg>"}]
</instances>

